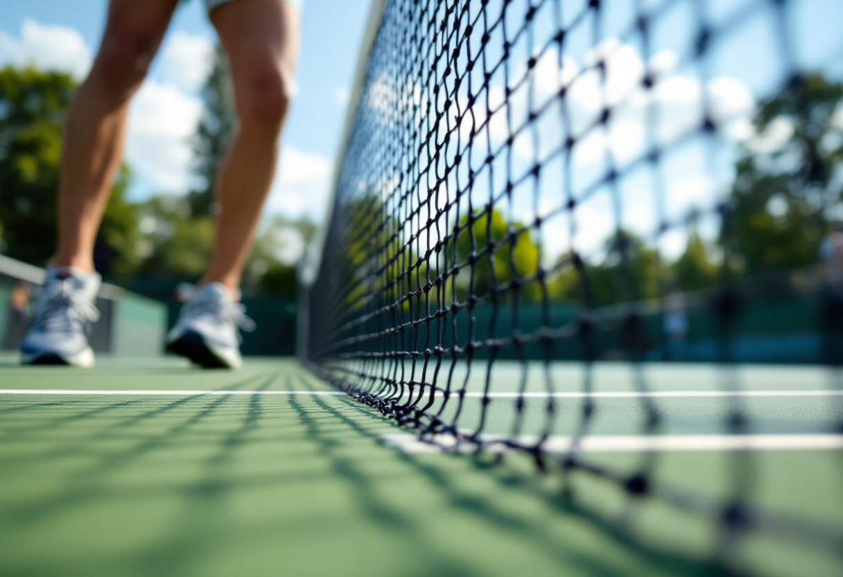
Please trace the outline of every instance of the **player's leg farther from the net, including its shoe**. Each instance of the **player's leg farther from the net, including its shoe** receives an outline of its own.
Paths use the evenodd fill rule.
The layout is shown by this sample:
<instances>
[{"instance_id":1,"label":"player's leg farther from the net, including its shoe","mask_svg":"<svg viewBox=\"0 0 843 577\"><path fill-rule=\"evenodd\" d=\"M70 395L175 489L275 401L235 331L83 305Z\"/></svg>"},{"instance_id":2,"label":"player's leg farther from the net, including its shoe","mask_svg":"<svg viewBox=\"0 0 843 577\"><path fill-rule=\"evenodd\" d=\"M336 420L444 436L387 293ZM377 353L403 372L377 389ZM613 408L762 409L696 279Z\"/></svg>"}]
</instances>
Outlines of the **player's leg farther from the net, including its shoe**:
<instances>
[{"instance_id":1,"label":"player's leg farther from the net, including its shoe","mask_svg":"<svg viewBox=\"0 0 843 577\"><path fill-rule=\"evenodd\" d=\"M89 77L67 112L59 184L58 245L21 343L24 364L94 364L88 328L99 313L93 252L120 166L129 99L146 75L177 0L111 0Z\"/></svg>"}]
</instances>

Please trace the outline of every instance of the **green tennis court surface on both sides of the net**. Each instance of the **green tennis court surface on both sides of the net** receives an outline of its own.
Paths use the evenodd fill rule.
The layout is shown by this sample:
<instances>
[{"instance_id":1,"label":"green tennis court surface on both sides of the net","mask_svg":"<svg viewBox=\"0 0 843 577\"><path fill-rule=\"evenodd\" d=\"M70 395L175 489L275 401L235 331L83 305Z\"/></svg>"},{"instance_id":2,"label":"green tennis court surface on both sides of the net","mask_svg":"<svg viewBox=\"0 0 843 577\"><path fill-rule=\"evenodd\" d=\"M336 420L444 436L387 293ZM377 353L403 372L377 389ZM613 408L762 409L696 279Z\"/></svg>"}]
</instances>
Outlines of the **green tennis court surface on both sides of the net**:
<instances>
[{"instance_id":1,"label":"green tennis court surface on both sides of the net","mask_svg":"<svg viewBox=\"0 0 843 577\"><path fill-rule=\"evenodd\" d=\"M500 382L512 370L515 386L518 368L500 370ZM561 367L557 375L557 390L571 392L559 399L561 411L574 423L581 370ZM722 375L648 370L652 390L665 393L653 399L666 417L663 433L717 439L732 401L694 391L719 388ZM658 454L658 478L722 500L734 490L736 457L749 460L754 504L840 531L843 451L827 433L840 423L841 403L823 392L829 375L752 369L741 379L745 390L764 393L741 399L752 432L777 442L793 435L803 445L749 453L717 442L679 445ZM610 439L593 459L632 470L642 459L635 443L645 408L630 382L620 365L599 367L595 391L622 394L594 399L590 432ZM173 359L101 359L89 371L6 359L0 390L3 577L725 570L714 560L724 552L710 519L631 500L584 474L571 479L566 499L560 477L528 474L516 456L491 466L488 458L432 452L293 360L212 372ZM466 426L478 402L466 399ZM491 399L491 429L507 429L506 406ZM535 407L537 421L542 411ZM553 434L564 438L574 429L561 421ZM765 535L749 534L726 554L749 574L843 574L827 549Z\"/></svg>"}]
</instances>

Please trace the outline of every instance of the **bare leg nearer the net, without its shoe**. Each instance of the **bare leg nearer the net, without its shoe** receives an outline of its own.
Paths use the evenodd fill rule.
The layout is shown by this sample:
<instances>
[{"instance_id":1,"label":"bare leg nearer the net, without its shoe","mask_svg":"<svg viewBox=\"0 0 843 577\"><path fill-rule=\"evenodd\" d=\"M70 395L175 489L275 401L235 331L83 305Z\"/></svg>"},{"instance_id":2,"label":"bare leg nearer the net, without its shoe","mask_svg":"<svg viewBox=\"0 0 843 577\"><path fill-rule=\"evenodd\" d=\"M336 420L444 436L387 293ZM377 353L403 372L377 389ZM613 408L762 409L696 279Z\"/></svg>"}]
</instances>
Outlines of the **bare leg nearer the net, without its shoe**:
<instances>
[{"instance_id":1,"label":"bare leg nearer the net, without its shoe","mask_svg":"<svg viewBox=\"0 0 843 577\"><path fill-rule=\"evenodd\" d=\"M228 53L238 130L217 177L220 213L202 283L238 294L255 226L275 174L298 57L298 10L283 0L239 0L211 13Z\"/></svg>"}]
</instances>

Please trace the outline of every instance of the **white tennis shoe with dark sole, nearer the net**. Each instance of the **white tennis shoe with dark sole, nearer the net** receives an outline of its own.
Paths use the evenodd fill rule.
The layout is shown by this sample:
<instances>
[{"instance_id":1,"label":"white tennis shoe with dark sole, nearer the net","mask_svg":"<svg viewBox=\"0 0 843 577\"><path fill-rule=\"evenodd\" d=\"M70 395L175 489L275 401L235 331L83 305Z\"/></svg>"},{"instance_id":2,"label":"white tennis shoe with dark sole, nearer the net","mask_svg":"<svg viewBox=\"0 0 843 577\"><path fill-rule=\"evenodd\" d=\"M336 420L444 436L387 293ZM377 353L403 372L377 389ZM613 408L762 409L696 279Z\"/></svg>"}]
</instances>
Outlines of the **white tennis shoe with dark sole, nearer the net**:
<instances>
[{"instance_id":1,"label":"white tennis shoe with dark sole, nearer the net","mask_svg":"<svg viewBox=\"0 0 843 577\"><path fill-rule=\"evenodd\" d=\"M167 350L207 369L239 369L239 328L252 331L255 321L221 283L207 283L181 310L167 335Z\"/></svg>"}]
</instances>

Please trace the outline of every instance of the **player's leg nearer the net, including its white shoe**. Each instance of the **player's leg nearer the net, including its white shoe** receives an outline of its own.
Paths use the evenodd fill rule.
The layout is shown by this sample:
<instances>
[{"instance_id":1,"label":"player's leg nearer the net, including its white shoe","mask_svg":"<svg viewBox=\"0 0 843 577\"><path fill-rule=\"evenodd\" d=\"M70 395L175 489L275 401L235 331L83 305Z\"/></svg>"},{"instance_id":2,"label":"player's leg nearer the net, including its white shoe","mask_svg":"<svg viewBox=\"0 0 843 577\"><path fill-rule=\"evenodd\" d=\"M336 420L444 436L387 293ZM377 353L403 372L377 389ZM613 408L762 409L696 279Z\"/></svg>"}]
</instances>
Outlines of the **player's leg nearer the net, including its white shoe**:
<instances>
[{"instance_id":1,"label":"player's leg nearer the net, including its white shoe","mask_svg":"<svg viewBox=\"0 0 843 577\"><path fill-rule=\"evenodd\" d=\"M238 128L217 175L220 212L203 285L168 335L168 348L208 367L240 364L234 303L255 226L275 173L293 92L298 8L284 0L231 0L211 20L228 54Z\"/></svg>"}]
</instances>

